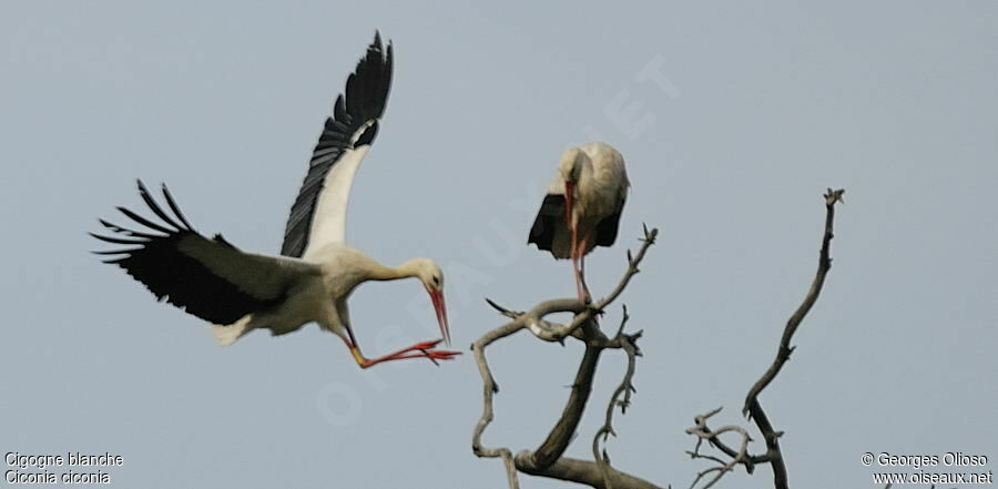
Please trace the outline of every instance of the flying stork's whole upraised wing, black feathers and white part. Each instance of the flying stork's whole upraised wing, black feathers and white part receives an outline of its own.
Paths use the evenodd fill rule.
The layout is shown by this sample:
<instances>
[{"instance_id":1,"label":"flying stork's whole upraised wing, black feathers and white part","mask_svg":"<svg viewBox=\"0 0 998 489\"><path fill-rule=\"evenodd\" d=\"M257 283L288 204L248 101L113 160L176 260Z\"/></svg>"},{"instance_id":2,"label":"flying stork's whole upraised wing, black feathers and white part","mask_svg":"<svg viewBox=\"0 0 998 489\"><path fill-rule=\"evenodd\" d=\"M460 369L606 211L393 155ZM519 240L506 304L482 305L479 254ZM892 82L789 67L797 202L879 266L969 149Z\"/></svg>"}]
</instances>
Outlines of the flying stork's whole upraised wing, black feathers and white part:
<instances>
[{"instance_id":1,"label":"flying stork's whole upraised wing, black feathers and white part","mask_svg":"<svg viewBox=\"0 0 998 489\"><path fill-rule=\"evenodd\" d=\"M384 50L380 34L375 33L312 153L308 174L287 218L282 255L301 257L309 249L344 242L350 184L378 132L390 85L391 43Z\"/></svg>"}]
</instances>

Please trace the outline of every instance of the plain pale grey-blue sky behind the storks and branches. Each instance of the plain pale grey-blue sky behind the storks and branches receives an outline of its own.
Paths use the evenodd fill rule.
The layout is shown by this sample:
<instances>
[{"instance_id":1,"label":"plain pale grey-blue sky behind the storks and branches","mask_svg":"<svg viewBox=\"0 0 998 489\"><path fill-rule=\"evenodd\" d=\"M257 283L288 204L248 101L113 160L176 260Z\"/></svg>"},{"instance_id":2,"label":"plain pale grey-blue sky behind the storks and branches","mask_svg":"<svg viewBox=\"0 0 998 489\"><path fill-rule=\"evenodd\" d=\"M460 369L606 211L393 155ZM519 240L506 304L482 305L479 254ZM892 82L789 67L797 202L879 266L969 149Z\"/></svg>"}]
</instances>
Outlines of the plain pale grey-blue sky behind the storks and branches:
<instances>
[{"instance_id":1,"label":"plain pale grey-blue sky behind the storks and branches","mask_svg":"<svg viewBox=\"0 0 998 489\"><path fill-rule=\"evenodd\" d=\"M814 274L827 186L847 202L834 267L762 397L792 481L873 487L866 451L994 469L996 23L986 1L6 2L0 451L121 454L120 488L505 487L470 451L470 357L360 371L314 326L223 349L86 253L98 216L140 206L136 177L167 182L198 230L277 252L322 122L380 29L396 77L348 241L440 262L458 346L502 323L485 296L573 293L527 231L564 147L624 154L633 192L618 247L587 262L594 291L642 222L661 241L622 299L645 356L609 445L621 469L686 487L703 468L683 454L693 416L724 406L716 424L745 424ZM352 313L369 353L434 336L416 282L366 285ZM486 444L534 447L580 354L495 347ZM601 364L572 456L590 456L624 358ZM729 477L772 483L767 468Z\"/></svg>"}]
</instances>

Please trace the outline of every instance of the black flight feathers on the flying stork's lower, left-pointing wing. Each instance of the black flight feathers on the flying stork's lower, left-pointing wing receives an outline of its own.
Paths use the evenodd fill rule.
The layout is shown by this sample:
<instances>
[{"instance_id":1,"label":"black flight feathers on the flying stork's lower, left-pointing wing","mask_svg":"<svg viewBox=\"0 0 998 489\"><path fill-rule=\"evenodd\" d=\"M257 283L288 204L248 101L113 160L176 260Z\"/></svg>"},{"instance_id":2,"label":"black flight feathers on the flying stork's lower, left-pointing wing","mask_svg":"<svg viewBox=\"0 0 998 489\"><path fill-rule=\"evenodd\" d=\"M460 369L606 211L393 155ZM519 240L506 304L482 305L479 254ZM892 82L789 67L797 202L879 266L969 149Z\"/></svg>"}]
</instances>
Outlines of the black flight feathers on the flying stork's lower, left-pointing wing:
<instances>
[{"instance_id":1,"label":"black flight feathers on the flying stork's lower, left-pointing wing","mask_svg":"<svg viewBox=\"0 0 998 489\"><path fill-rule=\"evenodd\" d=\"M182 222L183 225L177 224L163 211L149 195L141 181L139 182L139 193L156 216L175 228L169 230L132 211L119 207L122 213L136 223L163 234L140 233L101 220L101 224L105 227L126 237L91 233L93 237L108 243L139 246L94 252L100 255L111 255L111 258L104 263L124 268L129 275L143 283L157 299L165 299L190 314L215 324L234 323L246 314L271 308L284 300L285 294L254 295L241 289L238 285L212 272L206 264L186 254L183 249L185 246L222 246L231 249L231 253L242 254L242 252L221 235L215 236L214 241L208 241L197 234L184 218L165 186L163 186L163 194L166 202L173 211L175 220ZM287 287L284 287L284 292L286 289Z\"/></svg>"}]
</instances>

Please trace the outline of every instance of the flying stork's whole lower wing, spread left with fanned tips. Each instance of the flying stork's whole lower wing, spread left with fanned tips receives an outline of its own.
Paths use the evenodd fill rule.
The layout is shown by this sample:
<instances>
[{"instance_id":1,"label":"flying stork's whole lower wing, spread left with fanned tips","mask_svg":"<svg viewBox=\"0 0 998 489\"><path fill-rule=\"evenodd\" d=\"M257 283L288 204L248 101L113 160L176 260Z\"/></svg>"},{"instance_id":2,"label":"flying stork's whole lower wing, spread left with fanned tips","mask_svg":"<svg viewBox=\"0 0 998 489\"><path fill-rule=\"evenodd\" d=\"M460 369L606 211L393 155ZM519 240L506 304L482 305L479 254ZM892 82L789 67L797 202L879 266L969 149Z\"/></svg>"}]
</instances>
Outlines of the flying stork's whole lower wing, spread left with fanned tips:
<instances>
[{"instance_id":1,"label":"flying stork's whole lower wing, spread left with fanned tips","mask_svg":"<svg viewBox=\"0 0 998 489\"><path fill-rule=\"evenodd\" d=\"M225 325L276 306L297 281L319 273L317 266L299 259L244 253L221 234L213 240L197 234L165 185L163 196L173 216L153 200L142 181L139 194L161 221L118 207L145 228L133 231L101 220L114 234L90 234L128 247L94 253L110 255L104 263L124 268L157 299L166 299L202 319Z\"/></svg>"}]
</instances>

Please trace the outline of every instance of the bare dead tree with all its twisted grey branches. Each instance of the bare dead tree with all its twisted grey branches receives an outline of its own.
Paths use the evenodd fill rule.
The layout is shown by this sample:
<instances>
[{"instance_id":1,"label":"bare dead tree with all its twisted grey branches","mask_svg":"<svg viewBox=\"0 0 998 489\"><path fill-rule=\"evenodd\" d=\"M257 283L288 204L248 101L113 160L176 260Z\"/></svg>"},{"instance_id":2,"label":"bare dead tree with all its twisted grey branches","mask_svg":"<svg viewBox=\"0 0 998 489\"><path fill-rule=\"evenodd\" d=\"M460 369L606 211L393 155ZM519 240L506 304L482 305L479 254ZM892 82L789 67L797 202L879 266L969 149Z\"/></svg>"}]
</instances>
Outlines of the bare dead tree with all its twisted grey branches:
<instances>
[{"instance_id":1,"label":"bare dead tree with all its twisted grey branches","mask_svg":"<svg viewBox=\"0 0 998 489\"><path fill-rule=\"evenodd\" d=\"M695 417L695 426L689 428L686 432L696 438L696 446L689 451L691 457L705 459L714 465L697 472L692 488L697 485L701 489L711 488L717 483L725 475L732 472L737 466L744 466L748 473L754 471L755 466L768 463L773 469L773 480L776 489L787 489L786 467L783 460L783 454L780 448L778 439L783 435L776 431L772 422L766 416L758 401L761 393L775 379L784 364L790 359L794 350L792 339L804 317L817 302L825 277L832 267L831 242L833 234L833 224L835 217L835 204L842 202L844 191L833 191L828 189L825 193L825 230L822 238L822 247L818 254L818 268L815 278L811 285L804 302L797 307L794 314L787 320L781 337L776 358L763 376L752 386L745 398L743 412L753 420L763 436L766 445L766 451L753 455L748 451L748 444L752 437L748 430L740 426L723 426L717 429L711 429L707 426L707 419L721 411L721 408ZM621 414L627 411L631 401L632 394L635 393L633 386L633 377L637 367L637 357L641 356L641 349L638 347L638 339L641 332L635 334L624 333L625 325L629 319L627 307L623 308L623 318L620 327L613 337L608 337L598 324L599 316L609 307L627 288L631 278L640 272L639 265L644 258L648 248L654 244L658 230L649 231L644 228L644 236L641 240L642 246L637 255L628 252L628 266L623 276L617 286L602 299L593 303L589 297L585 300L574 298L552 299L537 304L526 312L508 309L492 300L488 300L499 314L510 319L507 324L486 333L479 338L471 349L475 353L475 359L478 364L479 373L482 378L482 414L472 434L471 449L478 457L501 458L507 471L507 478L510 488L519 488L518 472L529 473L533 476L549 477L566 481L578 482L593 488L600 489L658 489L658 486L637 478L634 476L621 472L614 469L610 462L610 456L607 451L605 444L609 437L617 436L613 428L613 412L619 406ZM546 319L547 316L556 313L572 313L573 317L567 324L560 324ZM519 333L522 329L529 330L537 338L544 342L563 343L567 338L573 337L581 340L585 345L585 350L576 373L572 383L571 393L562 410L558 421L551 428L544 440L534 450L522 450L512 455L512 450L508 447L487 448L482 446L481 438L495 418L493 397L499 391L492 371L489 368L486 358L486 348L507 336ZM605 349L621 349L628 356L628 368L621 384L613 391L607 406L607 415L603 426L595 432L592 439L593 461L579 460L564 457L564 451L572 441L574 434L579 427L579 422L585 411L585 404L592 391L593 377L595 376L599 359ZM735 434L741 436L741 442L737 448L729 446L721 438L726 434ZM722 456L713 456L701 454L700 449L706 441L720 450ZM726 457L726 459L724 458Z\"/></svg>"}]
</instances>

